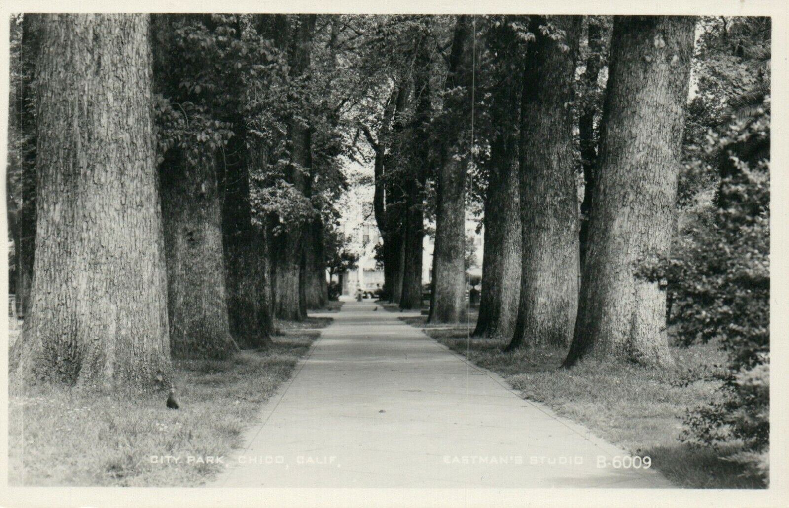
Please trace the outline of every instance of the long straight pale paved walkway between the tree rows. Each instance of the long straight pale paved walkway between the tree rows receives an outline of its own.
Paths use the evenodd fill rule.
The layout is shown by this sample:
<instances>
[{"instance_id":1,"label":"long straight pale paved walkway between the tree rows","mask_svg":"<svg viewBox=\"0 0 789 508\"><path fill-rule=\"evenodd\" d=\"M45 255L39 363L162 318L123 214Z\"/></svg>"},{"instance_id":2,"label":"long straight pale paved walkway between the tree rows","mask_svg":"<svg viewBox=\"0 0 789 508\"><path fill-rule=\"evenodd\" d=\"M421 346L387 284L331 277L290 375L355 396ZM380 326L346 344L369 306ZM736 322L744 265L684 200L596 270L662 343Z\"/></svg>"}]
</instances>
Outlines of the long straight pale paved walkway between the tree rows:
<instances>
[{"instance_id":1,"label":"long straight pale paved walkway between the tree rows","mask_svg":"<svg viewBox=\"0 0 789 508\"><path fill-rule=\"evenodd\" d=\"M375 308L344 304L210 487L671 486Z\"/></svg>"}]
</instances>

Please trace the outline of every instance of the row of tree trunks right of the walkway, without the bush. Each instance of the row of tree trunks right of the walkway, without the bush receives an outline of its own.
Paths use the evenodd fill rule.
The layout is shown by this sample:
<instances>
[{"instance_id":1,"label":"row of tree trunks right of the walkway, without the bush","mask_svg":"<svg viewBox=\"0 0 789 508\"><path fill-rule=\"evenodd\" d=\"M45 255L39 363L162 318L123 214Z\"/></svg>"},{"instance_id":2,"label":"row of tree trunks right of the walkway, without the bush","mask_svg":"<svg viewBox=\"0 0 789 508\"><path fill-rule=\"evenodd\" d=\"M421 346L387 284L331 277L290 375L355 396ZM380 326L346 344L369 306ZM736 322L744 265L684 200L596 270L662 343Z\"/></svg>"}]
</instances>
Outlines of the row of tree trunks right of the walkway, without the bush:
<instances>
[{"instance_id":1,"label":"row of tree trunks right of the walkway, without the bush","mask_svg":"<svg viewBox=\"0 0 789 508\"><path fill-rule=\"evenodd\" d=\"M421 304L427 215L436 223L428 321L465 316L466 210L479 200L475 334L510 337L510 348L572 343L567 364L598 353L669 363L666 293L634 273L671 242L694 26L616 17L611 35L604 17L381 21L375 36L402 53L383 77L391 93L377 136L360 123L376 153L387 297Z\"/></svg>"}]
</instances>

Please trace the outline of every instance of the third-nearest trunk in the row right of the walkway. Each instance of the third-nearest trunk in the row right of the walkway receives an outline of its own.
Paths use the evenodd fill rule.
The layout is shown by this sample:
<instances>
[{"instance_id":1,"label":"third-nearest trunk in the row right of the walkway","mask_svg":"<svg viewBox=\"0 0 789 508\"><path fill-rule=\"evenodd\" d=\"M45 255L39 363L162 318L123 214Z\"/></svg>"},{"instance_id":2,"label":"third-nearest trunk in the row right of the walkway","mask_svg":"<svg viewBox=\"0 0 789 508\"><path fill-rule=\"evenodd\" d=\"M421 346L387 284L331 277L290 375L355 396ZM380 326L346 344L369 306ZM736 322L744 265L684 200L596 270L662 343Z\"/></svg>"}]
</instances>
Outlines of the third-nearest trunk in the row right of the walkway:
<instances>
[{"instance_id":1,"label":"third-nearest trunk in the row right of the walkway","mask_svg":"<svg viewBox=\"0 0 789 508\"><path fill-rule=\"evenodd\" d=\"M484 200L484 253L482 297L476 337L511 337L518 317L521 291L521 215L518 189L522 49L515 32L498 28L493 43L494 65L503 74L492 95L491 121L496 126L491 140L490 174Z\"/></svg>"}]
</instances>

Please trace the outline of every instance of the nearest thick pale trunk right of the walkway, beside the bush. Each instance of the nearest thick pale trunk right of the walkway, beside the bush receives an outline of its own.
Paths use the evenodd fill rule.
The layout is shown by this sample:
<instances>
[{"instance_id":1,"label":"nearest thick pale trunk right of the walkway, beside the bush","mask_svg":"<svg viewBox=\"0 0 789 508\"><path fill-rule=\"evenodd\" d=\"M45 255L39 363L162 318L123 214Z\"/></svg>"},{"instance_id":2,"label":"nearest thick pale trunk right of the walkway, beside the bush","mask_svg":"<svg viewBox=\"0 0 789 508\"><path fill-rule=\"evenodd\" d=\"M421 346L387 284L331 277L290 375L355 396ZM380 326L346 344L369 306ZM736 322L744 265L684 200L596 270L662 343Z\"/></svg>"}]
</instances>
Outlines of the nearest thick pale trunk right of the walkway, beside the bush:
<instances>
[{"instance_id":1,"label":"nearest thick pale trunk right of the walkway, beside the bush","mask_svg":"<svg viewBox=\"0 0 789 508\"><path fill-rule=\"evenodd\" d=\"M636 276L667 254L693 54L690 17L617 17L589 251L570 366L583 357L671 364L666 294Z\"/></svg>"}]
</instances>

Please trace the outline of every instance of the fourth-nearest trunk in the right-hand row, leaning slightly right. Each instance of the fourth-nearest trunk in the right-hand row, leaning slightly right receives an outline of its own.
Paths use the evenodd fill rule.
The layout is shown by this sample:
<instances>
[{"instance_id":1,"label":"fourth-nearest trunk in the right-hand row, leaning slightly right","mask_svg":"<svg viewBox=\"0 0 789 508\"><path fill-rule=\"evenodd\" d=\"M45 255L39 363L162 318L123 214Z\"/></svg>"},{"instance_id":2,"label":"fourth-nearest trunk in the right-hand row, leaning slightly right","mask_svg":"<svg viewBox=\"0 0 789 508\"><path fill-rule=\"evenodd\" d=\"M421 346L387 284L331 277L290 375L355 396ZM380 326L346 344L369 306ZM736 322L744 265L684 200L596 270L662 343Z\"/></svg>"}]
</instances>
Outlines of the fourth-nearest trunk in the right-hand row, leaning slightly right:
<instances>
[{"instance_id":1,"label":"fourth-nearest trunk in the right-hand row, leaning slightly right","mask_svg":"<svg viewBox=\"0 0 789 508\"><path fill-rule=\"evenodd\" d=\"M473 28L471 17L458 16L454 28L447 90L471 88L473 65ZM433 248L433 283L428 323L457 323L466 316L466 153L463 140L469 123L470 93L447 99L447 118L443 129L441 159L436 181L436 245ZM456 116L457 115L457 116Z\"/></svg>"}]
</instances>

